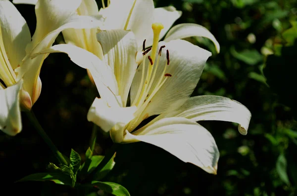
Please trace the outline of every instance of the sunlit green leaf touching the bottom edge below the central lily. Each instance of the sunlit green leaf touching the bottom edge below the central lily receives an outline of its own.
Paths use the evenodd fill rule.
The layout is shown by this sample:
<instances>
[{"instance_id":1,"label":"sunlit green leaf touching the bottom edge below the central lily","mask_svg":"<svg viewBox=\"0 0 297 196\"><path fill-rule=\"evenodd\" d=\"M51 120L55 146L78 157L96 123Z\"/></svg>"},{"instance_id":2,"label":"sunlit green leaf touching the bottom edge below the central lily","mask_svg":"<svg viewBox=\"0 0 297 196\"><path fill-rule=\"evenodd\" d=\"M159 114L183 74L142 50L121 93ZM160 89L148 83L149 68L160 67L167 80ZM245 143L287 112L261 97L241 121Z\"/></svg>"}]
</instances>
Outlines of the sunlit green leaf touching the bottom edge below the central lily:
<instances>
[{"instance_id":1,"label":"sunlit green leaf touching the bottom edge below the central lily","mask_svg":"<svg viewBox=\"0 0 297 196\"><path fill-rule=\"evenodd\" d=\"M93 181L92 185L114 196L130 196L125 187L113 182Z\"/></svg>"}]
</instances>

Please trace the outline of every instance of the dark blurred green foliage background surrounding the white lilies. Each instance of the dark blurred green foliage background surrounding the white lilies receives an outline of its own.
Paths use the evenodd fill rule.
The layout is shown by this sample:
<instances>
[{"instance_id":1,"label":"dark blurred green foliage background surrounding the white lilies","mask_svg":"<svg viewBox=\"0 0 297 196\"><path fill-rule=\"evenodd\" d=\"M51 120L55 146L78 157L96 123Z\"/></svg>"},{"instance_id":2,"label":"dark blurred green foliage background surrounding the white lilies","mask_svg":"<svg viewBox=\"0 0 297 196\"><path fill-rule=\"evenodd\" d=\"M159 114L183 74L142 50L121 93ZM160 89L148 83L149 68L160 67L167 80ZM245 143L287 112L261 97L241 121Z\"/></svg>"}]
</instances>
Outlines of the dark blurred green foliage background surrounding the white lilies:
<instances>
[{"instance_id":1,"label":"dark blurred green foliage background surrounding the white lilies","mask_svg":"<svg viewBox=\"0 0 297 196\"><path fill-rule=\"evenodd\" d=\"M123 185L132 196L297 195L296 0L155 0L155 5L175 6L183 11L176 24L198 23L219 41L216 54L210 41L187 39L213 53L193 95L226 96L247 106L252 114L248 134L240 135L229 122L200 122L220 150L216 176L157 147L134 143L121 145L103 180ZM16 7L33 33L34 6ZM50 54L41 79L41 97L33 110L63 154L73 148L85 160L92 130L86 115L98 96L96 88L65 54ZM16 137L0 133L1 187L10 195L80 195L53 182L14 183L44 172L55 160L25 116L23 124ZM94 154L105 154L111 144L100 133ZM103 193L91 195L98 194Z\"/></svg>"}]
</instances>

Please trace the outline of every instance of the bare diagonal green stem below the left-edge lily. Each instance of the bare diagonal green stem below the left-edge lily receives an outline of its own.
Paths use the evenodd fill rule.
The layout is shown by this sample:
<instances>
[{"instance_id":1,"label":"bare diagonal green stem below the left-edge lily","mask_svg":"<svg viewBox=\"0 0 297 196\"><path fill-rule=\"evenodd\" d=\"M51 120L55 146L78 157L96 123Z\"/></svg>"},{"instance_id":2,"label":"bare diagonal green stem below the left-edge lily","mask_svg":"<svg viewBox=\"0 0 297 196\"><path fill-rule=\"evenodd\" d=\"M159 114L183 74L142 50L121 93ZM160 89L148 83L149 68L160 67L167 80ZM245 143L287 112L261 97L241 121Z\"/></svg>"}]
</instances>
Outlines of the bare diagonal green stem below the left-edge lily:
<instances>
[{"instance_id":1,"label":"bare diagonal green stem below the left-edge lily","mask_svg":"<svg viewBox=\"0 0 297 196\"><path fill-rule=\"evenodd\" d=\"M54 154L54 156L59 160L59 162L63 165L68 165L67 161L63 157L63 155L58 151L58 149L55 147L55 145L52 143L52 141L49 139L49 136L45 132L45 130L42 128L40 125L38 119L35 117L33 111L31 110L30 112L26 112L27 117L33 124L33 126L36 128L38 131L39 135L42 137L42 139L47 143L49 146L50 150Z\"/></svg>"}]
</instances>

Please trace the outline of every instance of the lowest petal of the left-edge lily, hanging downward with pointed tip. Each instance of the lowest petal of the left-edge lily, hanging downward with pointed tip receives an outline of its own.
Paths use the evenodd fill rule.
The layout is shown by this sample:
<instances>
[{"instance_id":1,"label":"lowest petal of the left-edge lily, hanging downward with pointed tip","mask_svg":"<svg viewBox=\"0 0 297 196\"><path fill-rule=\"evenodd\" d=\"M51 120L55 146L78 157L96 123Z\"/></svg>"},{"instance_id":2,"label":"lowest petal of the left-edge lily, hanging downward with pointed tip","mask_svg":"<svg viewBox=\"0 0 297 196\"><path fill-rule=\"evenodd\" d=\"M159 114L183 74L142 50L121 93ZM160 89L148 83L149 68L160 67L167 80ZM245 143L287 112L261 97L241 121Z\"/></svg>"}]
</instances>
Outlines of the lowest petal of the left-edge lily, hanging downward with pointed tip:
<instances>
[{"instance_id":1,"label":"lowest petal of the left-edge lily, hanging downward with pointed tip","mask_svg":"<svg viewBox=\"0 0 297 196\"><path fill-rule=\"evenodd\" d=\"M0 129L11 136L22 130L19 91L23 81L0 90Z\"/></svg>"}]
</instances>

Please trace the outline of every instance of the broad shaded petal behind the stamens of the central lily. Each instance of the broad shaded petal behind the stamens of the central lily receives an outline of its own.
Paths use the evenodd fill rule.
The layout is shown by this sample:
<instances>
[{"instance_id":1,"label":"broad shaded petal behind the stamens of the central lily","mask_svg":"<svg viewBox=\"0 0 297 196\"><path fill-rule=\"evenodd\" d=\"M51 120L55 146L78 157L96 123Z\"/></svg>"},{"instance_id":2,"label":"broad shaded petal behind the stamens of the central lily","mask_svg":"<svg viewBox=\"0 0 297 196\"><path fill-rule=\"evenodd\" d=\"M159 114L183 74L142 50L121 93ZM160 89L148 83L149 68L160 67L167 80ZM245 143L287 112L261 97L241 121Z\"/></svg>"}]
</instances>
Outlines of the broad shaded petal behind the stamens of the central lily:
<instances>
[{"instance_id":1,"label":"broad shaded petal behind the stamens of the central lily","mask_svg":"<svg viewBox=\"0 0 297 196\"><path fill-rule=\"evenodd\" d=\"M156 88L159 78L165 79L164 84L159 88L156 94L150 99L150 103L142 113L142 117L149 117L161 113L167 113L178 109L192 94L196 87L200 75L203 71L206 60L211 53L185 40L172 40L168 43L160 42L159 46L165 45L162 49L158 69L148 93L150 94ZM170 63L167 65L166 50L169 51ZM156 58L157 59L157 58ZM157 60L156 60L157 61ZM153 65L156 67L157 62ZM146 60L146 67L150 66ZM138 91L143 63L139 66L131 86L131 101L133 103ZM165 75L163 70L166 67ZM147 70L148 68L146 68ZM146 74L145 74L146 75Z\"/></svg>"}]
</instances>

